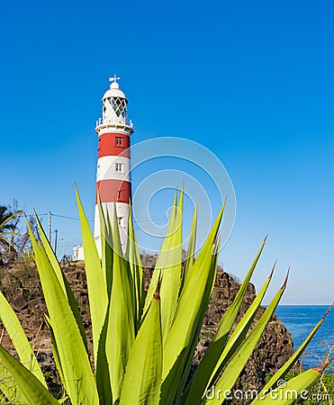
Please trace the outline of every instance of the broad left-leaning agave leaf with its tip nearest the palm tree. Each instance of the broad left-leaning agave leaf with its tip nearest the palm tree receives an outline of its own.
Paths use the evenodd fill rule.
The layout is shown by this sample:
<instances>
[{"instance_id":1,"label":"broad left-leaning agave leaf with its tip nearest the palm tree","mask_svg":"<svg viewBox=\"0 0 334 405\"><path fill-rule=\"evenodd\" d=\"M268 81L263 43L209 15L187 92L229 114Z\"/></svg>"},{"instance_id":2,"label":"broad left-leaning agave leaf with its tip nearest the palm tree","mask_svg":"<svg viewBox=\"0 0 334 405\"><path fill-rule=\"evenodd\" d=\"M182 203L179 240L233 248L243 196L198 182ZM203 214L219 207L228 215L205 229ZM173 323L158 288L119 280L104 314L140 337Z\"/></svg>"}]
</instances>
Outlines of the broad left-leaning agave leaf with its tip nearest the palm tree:
<instances>
[{"instance_id":1,"label":"broad left-leaning agave leaf with its tip nearest the palm tree","mask_svg":"<svg viewBox=\"0 0 334 405\"><path fill-rule=\"evenodd\" d=\"M95 377L77 320L44 247L37 244L32 229L29 232L68 396L72 403L98 403Z\"/></svg>"}]
</instances>

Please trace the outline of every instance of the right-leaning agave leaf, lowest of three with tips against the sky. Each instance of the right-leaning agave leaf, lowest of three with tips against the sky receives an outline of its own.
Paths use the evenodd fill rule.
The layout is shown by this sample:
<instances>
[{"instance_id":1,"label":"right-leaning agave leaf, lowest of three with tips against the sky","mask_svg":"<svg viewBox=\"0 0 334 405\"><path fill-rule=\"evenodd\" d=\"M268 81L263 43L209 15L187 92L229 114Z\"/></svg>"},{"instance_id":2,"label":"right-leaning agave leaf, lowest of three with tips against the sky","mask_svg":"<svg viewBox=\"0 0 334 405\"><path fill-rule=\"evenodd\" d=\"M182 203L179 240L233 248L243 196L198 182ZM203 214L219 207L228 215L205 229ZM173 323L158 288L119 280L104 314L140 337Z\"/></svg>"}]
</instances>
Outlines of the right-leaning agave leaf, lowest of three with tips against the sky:
<instances>
[{"instance_id":1,"label":"right-leaning agave leaf, lowest of three with tips against the sky","mask_svg":"<svg viewBox=\"0 0 334 405\"><path fill-rule=\"evenodd\" d=\"M254 348L257 346L257 342L259 338L261 338L263 331L266 329L266 325L271 319L278 305L278 302L280 302L280 299L286 287L287 277L288 276L286 276L285 278L283 286L278 290L274 299L266 308L266 311L257 321L257 325L254 327L254 329L251 330L248 338L243 341L242 345L230 358L230 362L222 370L220 376L218 378L214 376L208 384L210 387L214 386L216 392L221 390L221 398L214 398L209 400L208 398L204 397L201 404L221 405L221 402L225 400L227 392L230 392L230 389L237 381L241 370L243 369L244 365L246 365L249 356L252 354Z\"/></svg>"}]
</instances>

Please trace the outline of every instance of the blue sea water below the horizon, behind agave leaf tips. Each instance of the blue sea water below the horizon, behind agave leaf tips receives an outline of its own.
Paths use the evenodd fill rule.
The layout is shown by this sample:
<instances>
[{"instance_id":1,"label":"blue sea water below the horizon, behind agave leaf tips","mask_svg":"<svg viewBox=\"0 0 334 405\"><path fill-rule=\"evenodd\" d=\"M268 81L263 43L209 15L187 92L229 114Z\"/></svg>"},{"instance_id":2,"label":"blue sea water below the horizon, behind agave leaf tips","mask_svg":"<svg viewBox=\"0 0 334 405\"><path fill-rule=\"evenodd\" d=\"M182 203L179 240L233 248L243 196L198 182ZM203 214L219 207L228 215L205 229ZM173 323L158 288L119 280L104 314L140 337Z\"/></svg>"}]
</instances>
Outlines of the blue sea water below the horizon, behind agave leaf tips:
<instances>
[{"instance_id":1,"label":"blue sea water below the horizon, behind agave leaf tips","mask_svg":"<svg viewBox=\"0 0 334 405\"><path fill-rule=\"evenodd\" d=\"M285 328L292 334L293 346L296 350L329 309L325 305L280 305L275 313ZM334 345L334 308L329 312L320 329L312 338L302 356L304 368L320 365L324 356ZM334 350L331 356L334 356Z\"/></svg>"}]
</instances>

